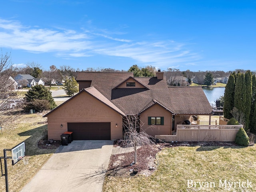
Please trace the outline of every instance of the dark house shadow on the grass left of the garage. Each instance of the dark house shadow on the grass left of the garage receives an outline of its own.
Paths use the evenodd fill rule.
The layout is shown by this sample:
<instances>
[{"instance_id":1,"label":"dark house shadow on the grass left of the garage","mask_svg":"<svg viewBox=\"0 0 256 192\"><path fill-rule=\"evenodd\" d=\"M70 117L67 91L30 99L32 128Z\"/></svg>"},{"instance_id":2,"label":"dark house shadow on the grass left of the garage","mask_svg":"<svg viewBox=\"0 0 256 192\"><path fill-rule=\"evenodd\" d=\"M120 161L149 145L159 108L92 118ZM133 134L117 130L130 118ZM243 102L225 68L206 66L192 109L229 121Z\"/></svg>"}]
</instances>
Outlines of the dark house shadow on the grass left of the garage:
<instances>
[{"instance_id":1,"label":"dark house shadow on the grass left of the garage","mask_svg":"<svg viewBox=\"0 0 256 192\"><path fill-rule=\"evenodd\" d=\"M26 156L50 154L55 152L56 149L38 148L38 141L44 137L45 130L47 130L47 125L43 125L18 134L19 136L30 136L26 140L24 140Z\"/></svg>"}]
</instances>

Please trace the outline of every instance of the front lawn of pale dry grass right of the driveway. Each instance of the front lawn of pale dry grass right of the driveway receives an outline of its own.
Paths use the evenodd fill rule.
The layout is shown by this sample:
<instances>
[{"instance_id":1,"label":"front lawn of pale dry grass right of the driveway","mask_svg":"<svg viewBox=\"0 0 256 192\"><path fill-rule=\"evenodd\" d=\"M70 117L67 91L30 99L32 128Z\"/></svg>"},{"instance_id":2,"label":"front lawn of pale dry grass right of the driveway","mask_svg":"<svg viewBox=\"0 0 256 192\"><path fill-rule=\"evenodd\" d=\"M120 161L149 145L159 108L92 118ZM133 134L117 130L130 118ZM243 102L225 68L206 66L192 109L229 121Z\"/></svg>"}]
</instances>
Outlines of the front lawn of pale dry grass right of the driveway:
<instances>
[{"instance_id":1,"label":"front lawn of pale dry grass right of the driveway","mask_svg":"<svg viewBox=\"0 0 256 192\"><path fill-rule=\"evenodd\" d=\"M158 167L151 176L130 176L129 174L126 177L107 176L103 191L254 192L256 188L255 154L256 146L246 148L236 146L164 148L156 156ZM250 185L247 187L247 180L252 187ZM196 186L194 182L197 182ZM240 182L240 185L242 182L246 182L246 184L243 183L245 188L238 188L238 183L236 187L233 183L230 188L228 182L230 184L231 182Z\"/></svg>"}]
</instances>

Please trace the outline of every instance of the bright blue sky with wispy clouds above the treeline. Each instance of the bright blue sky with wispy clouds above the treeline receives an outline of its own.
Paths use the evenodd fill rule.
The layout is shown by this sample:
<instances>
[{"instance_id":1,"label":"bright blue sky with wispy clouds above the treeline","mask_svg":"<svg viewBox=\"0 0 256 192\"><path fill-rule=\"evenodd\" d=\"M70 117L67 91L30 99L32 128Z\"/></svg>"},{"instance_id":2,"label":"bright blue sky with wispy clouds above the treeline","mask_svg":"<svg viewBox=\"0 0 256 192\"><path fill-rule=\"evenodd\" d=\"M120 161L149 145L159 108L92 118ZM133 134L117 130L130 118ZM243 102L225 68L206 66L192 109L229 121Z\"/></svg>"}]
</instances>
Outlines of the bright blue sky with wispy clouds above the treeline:
<instances>
[{"instance_id":1,"label":"bright blue sky with wispy clouds above the treeline","mask_svg":"<svg viewBox=\"0 0 256 192\"><path fill-rule=\"evenodd\" d=\"M4 0L12 63L256 70L256 0Z\"/></svg>"}]
</instances>

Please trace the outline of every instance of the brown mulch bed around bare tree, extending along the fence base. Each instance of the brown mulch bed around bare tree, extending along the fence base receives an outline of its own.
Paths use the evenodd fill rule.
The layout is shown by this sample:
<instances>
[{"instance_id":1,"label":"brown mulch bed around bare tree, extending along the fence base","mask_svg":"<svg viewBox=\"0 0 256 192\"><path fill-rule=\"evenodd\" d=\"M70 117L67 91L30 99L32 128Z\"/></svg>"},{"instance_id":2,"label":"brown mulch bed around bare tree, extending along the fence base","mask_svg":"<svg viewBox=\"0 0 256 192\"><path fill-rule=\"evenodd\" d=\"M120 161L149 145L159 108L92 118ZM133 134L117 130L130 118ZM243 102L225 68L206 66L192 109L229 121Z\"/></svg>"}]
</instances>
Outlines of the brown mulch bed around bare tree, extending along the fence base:
<instances>
[{"instance_id":1,"label":"brown mulch bed around bare tree, extending along the fence base","mask_svg":"<svg viewBox=\"0 0 256 192\"><path fill-rule=\"evenodd\" d=\"M110 176L134 176L133 169L138 168L138 174L150 176L156 170L158 161L156 153L162 148L178 146L237 146L235 142L164 142L156 145L142 146L137 150L137 163L134 162L134 151L123 154L112 154L108 166L107 175ZM120 147L114 145L113 147ZM150 166L153 168L149 170Z\"/></svg>"}]
</instances>

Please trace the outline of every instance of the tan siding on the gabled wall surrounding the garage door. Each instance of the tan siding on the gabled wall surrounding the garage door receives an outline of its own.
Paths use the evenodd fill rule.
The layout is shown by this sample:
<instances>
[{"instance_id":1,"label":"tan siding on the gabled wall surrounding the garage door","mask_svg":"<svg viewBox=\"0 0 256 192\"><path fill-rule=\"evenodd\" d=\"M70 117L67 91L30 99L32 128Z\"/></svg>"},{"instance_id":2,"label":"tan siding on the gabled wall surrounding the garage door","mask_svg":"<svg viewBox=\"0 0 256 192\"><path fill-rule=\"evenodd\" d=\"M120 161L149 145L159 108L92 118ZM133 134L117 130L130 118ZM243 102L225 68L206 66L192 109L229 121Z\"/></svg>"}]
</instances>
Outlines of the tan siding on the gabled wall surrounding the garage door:
<instances>
[{"instance_id":1,"label":"tan siding on the gabled wall surrounding the garage door","mask_svg":"<svg viewBox=\"0 0 256 192\"><path fill-rule=\"evenodd\" d=\"M68 122L110 122L111 140L122 138L122 116L86 92L48 115L48 138L60 140Z\"/></svg>"}]
</instances>

